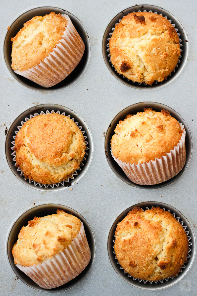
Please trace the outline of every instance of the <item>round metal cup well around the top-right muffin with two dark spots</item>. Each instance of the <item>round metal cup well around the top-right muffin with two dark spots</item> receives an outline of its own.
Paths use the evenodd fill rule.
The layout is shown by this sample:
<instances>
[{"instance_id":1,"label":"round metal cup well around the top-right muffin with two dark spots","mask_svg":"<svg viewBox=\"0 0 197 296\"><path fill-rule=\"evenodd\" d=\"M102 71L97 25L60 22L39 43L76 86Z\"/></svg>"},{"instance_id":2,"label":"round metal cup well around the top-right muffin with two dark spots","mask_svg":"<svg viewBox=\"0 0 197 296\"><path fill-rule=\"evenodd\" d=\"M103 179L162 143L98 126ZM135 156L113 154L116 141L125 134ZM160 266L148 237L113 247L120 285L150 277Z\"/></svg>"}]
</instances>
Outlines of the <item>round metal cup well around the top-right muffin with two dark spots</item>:
<instances>
[{"instance_id":1,"label":"round metal cup well around the top-right muffin with two dark spots","mask_svg":"<svg viewBox=\"0 0 197 296\"><path fill-rule=\"evenodd\" d=\"M161 83L158 81L154 81L154 83L151 86L146 83L134 82L134 81L126 78L124 75L117 73L117 71L115 70L114 66L111 63L109 40L113 34L113 31L115 29L115 25L117 25L122 20L122 18L124 16L128 15L131 12L153 12L155 14L162 15L167 20L169 20L169 22L172 24L172 26L175 28L175 30L178 34L179 42L180 42L180 50L181 50L178 64L176 65L175 69L170 73L170 75L167 76L167 79L164 79L164 81L162 81ZM118 15L116 15L113 18L113 20L111 20L111 22L107 26L104 36L103 36L102 54L103 54L103 58L105 60L106 66L108 67L108 69L110 70L112 75L115 78L117 78L119 81L126 84L127 86L137 88L137 89L152 89L155 87L157 87L157 88L161 87L161 86L169 83L170 81L174 80L179 75L181 70L183 70L183 67L184 67L184 65L187 61L187 57L188 57L188 42L186 40L187 40L187 36L186 36L183 26L181 25L179 20L174 15L172 15L170 12L168 12L167 10L165 10L161 7L157 7L154 5L136 5L136 6L132 6L127 9L124 9L123 11L118 13Z\"/></svg>"}]
</instances>

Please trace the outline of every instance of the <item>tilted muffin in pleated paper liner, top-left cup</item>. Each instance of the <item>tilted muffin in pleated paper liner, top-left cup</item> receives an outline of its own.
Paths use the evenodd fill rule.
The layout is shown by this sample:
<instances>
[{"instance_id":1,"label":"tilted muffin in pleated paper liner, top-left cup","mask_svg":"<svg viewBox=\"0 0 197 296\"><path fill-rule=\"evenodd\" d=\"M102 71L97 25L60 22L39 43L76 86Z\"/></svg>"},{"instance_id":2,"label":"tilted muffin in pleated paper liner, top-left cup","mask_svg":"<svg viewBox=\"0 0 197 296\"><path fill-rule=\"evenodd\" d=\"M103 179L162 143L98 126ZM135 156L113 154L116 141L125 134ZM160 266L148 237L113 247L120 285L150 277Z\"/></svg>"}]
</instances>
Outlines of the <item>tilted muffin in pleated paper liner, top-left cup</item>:
<instances>
[{"instance_id":1,"label":"tilted muffin in pleated paper liner, top-left cup","mask_svg":"<svg viewBox=\"0 0 197 296\"><path fill-rule=\"evenodd\" d=\"M85 48L70 18L54 12L33 17L11 40L12 69L44 87L66 78Z\"/></svg>"}]
</instances>

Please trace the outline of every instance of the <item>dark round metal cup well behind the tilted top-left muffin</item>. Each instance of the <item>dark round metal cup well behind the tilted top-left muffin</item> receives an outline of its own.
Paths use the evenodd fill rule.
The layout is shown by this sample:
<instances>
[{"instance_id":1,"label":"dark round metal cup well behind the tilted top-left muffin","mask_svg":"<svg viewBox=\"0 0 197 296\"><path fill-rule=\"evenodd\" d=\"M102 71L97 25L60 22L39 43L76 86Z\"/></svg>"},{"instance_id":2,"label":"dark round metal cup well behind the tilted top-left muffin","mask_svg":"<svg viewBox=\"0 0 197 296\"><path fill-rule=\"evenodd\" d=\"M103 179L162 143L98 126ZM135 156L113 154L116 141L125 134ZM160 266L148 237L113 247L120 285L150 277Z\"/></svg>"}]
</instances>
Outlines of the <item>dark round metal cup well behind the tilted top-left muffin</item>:
<instances>
[{"instance_id":1,"label":"dark round metal cup well behind the tilted top-left muffin","mask_svg":"<svg viewBox=\"0 0 197 296\"><path fill-rule=\"evenodd\" d=\"M14 72L14 70L11 67L12 64L12 41L11 38L16 36L18 31L23 27L23 24L29 20L32 19L32 17L35 16L44 16L46 14L50 14L51 12L55 12L56 14L66 14L71 19L71 22L73 23L76 31L79 33L80 37L82 38L84 45L85 45L85 51L82 56L82 59L80 60L79 64L75 67L75 69L69 74L64 80L59 82L58 84L51 86L49 88L45 88L43 86L40 86L39 84L29 80L28 78L25 78L24 76L18 75ZM63 89L72 83L74 83L85 71L89 58L90 58L90 41L89 36L82 25L82 23L70 12L67 12L64 9L60 9L57 7L38 7L31 9L22 15L20 15L13 23L10 25L9 30L7 31L5 41L4 41L4 58L6 65L10 71L10 73L14 76L14 78L19 81L24 86L27 86L31 89L38 90L38 91L57 91L59 89Z\"/></svg>"}]
</instances>

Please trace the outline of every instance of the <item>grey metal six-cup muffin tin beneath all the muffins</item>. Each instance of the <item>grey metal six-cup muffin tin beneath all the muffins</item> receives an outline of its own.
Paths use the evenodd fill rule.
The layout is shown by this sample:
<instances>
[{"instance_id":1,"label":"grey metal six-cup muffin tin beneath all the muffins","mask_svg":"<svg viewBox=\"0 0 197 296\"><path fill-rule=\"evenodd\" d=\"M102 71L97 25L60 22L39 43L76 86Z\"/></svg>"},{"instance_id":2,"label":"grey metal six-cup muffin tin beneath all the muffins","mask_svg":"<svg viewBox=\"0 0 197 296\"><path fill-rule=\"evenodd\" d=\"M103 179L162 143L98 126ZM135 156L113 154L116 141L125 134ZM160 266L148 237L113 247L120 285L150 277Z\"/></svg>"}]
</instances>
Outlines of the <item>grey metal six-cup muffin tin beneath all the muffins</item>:
<instances>
[{"instance_id":1,"label":"grey metal six-cup muffin tin beneath all the muffins","mask_svg":"<svg viewBox=\"0 0 197 296\"><path fill-rule=\"evenodd\" d=\"M9 2L9 7L6 2L2 4L2 12L6 11L6 14L2 15L4 25L0 29L5 59L0 77L1 94L4 96L0 123L3 139L0 154L2 165L0 260L3 272L0 274L0 286L3 296L36 296L43 295L43 292L55 292L55 295L63 296L64 290L69 288L71 289L66 291L69 296L79 294L89 296L92 293L95 296L113 296L121 295L123 292L126 296L131 294L150 296L154 293L162 296L163 288L166 288L165 294L169 296L195 295L197 129L194 112L196 90L195 84L191 81L196 69L192 44L196 2L192 1L189 5L183 0L180 0L178 5L165 3L165 9L161 7L164 4L160 0L154 4L157 6L143 4L129 7L131 5L129 1L122 6L119 1L109 3L103 0L96 4L87 0L83 5L76 5L75 1L65 3L60 0L57 5L61 8L39 7L45 5L42 0L35 0L33 5L37 8L22 2L16 5L12 0ZM124 9L125 7L129 8ZM143 83L139 85L118 75L109 62L110 57L107 52L109 42L107 39L110 38L110 30L115 23L119 22L123 15L138 10L157 11L172 20L175 28L178 28L179 38L183 44L178 68L167 80L152 86ZM45 15L51 11L66 12L69 15L86 49L79 65L64 81L52 88L44 89L14 73L10 66L12 48L10 38L31 17ZM8 26L10 28L7 31ZM77 79L78 81L72 84ZM55 92L57 90L59 91ZM124 119L126 114L135 114L144 107L152 107L156 111L162 109L169 111L170 115L180 120L186 129L184 168L174 178L153 186L141 186L129 181L110 153L110 140L116 124ZM39 185L35 186L34 182L29 183L29 180L25 180L14 166L11 149L14 131L25 117L28 118L34 113L40 114L42 110L44 112L59 110L61 113L71 115L71 118L79 122L79 126L85 131L84 135L87 136L89 149L84 166L71 182L70 179L69 182L64 182L64 186L40 188ZM183 225L187 226L186 231L189 231L192 242L189 253L191 257L188 258L182 272L174 279L157 284L134 281L132 277L128 277L128 274L124 274L123 269L117 264L113 253L114 231L117 223L134 206L144 209L146 206L164 207L165 210L175 213L176 217L179 216L180 221L184 222ZM21 227L27 225L27 221L35 215L55 213L57 207L73 213L84 223L92 258L87 268L74 280L54 290L45 290L38 287L14 265L12 246Z\"/></svg>"}]
</instances>

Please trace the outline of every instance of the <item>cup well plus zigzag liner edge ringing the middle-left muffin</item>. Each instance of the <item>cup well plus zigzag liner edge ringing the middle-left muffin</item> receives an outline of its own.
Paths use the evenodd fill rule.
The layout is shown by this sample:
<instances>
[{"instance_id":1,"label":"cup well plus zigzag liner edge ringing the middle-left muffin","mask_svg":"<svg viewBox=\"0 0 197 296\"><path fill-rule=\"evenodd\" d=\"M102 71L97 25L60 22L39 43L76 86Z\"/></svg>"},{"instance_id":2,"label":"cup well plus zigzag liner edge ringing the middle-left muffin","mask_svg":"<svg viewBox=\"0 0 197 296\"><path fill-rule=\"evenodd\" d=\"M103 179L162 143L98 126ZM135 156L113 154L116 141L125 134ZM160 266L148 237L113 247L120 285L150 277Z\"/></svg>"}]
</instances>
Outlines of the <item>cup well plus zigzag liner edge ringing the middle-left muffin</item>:
<instances>
[{"instance_id":1,"label":"cup well plus zigzag liner edge ringing the middle-left muffin","mask_svg":"<svg viewBox=\"0 0 197 296\"><path fill-rule=\"evenodd\" d=\"M30 179L25 179L25 177L23 176L22 170L15 166L16 153L13 151L13 148L15 145L16 134L26 121L28 121L30 118L33 118L34 116L45 114L45 113L52 113L52 112L69 116L76 123L79 129L81 129L84 135L84 139L87 140L85 141L86 151L85 151L84 159L82 160L79 169L77 169L68 180L62 181L56 184L44 185ZM11 168L14 175L17 176L17 178L20 181L38 190L52 191L52 190L59 190L59 189L64 189L65 187L69 187L74 183L76 183L76 181L78 181L84 175L92 159L93 142L92 142L92 136L90 134L89 128L76 112L70 110L69 108L55 105L55 104L43 104L43 105L38 105L26 110L21 115L19 115L19 117L16 120L14 120L14 123L10 127L8 134L6 136L5 147L6 147L6 158L7 158L9 167Z\"/></svg>"}]
</instances>

